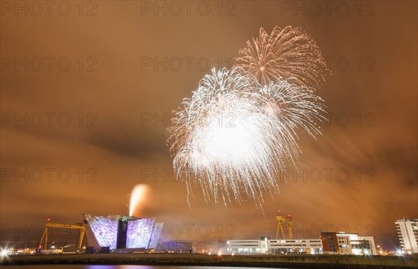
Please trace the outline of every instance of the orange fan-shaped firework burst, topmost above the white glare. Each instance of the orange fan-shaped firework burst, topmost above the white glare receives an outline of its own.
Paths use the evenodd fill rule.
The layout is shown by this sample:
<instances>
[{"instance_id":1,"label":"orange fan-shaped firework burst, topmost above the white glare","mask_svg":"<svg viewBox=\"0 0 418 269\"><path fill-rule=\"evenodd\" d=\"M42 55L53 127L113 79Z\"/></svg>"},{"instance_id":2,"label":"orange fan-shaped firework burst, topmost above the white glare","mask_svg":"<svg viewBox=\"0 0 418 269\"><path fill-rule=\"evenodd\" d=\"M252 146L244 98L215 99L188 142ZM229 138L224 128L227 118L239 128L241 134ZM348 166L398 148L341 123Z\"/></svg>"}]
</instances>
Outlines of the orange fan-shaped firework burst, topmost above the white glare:
<instances>
[{"instance_id":1,"label":"orange fan-shaped firework burst, topmost above the white glare","mask_svg":"<svg viewBox=\"0 0 418 269\"><path fill-rule=\"evenodd\" d=\"M292 26L275 26L270 35L260 28L258 38L253 38L252 43L248 40L247 47L240 49L234 67L253 74L261 85L285 78L314 88L321 85L327 70L315 41Z\"/></svg>"}]
</instances>

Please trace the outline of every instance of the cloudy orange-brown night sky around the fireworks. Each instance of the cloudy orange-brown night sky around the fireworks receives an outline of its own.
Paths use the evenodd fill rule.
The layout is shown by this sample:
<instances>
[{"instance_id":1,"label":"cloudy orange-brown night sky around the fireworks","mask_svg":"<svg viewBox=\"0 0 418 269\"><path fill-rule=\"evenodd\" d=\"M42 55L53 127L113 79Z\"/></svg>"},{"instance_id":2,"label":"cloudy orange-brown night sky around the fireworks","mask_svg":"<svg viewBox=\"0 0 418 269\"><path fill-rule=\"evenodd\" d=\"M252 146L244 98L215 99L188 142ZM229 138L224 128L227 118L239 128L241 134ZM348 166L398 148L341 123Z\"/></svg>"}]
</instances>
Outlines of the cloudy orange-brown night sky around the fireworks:
<instances>
[{"instance_id":1,"label":"cloudy orange-brown night sky around the fireworks","mask_svg":"<svg viewBox=\"0 0 418 269\"><path fill-rule=\"evenodd\" d=\"M208 240L199 225L223 238L274 238L281 212L299 238L332 224L394 249L394 221L418 217L416 1L330 1L329 10L321 1L191 1L189 10L162 1L167 15L154 1L59 3L41 12L1 2L1 241L46 218L127 214L140 183L150 192L135 215L179 225L192 241ZM284 171L263 211L251 200L206 204L199 188L189 206L171 172L171 111L261 26L276 25L301 27L330 64L316 91L330 119L323 135L300 137L299 174Z\"/></svg>"}]
</instances>

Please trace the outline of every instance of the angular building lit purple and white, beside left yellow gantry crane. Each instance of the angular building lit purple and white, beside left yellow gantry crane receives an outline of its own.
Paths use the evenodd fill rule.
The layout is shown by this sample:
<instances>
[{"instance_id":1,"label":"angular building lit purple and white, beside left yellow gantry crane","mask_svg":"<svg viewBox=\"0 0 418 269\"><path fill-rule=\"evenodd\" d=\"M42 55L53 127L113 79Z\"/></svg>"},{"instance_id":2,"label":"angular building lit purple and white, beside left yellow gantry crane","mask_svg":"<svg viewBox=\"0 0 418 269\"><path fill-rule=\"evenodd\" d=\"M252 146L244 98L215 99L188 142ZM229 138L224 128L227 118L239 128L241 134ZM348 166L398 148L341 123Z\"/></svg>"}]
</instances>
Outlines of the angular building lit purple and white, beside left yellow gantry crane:
<instances>
[{"instance_id":1,"label":"angular building lit purple and white, beside left yellow gantry crane","mask_svg":"<svg viewBox=\"0 0 418 269\"><path fill-rule=\"evenodd\" d=\"M110 250L155 249L163 223L154 218L134 218L127 215L83 214L89 246Z\"/></svg>"}]
</instances>

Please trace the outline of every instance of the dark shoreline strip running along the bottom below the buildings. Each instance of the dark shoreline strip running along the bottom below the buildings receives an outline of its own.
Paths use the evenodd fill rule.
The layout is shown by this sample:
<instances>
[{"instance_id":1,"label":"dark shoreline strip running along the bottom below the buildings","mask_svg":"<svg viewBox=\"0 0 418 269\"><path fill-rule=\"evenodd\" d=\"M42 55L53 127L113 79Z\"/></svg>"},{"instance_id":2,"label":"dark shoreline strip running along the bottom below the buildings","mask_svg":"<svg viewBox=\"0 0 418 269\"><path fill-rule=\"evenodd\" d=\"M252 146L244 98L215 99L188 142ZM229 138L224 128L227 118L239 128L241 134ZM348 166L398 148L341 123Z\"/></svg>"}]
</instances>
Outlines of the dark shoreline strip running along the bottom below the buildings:
<instances>
[{"instance_id":1,"label":"dark shoreline strip running along the bottom below the buildings","mask_svg":"<svg viewBox=\"0 0 418 269\"><path fill-rule=\"evenodd\" d=\"M3 258L0 266L42 264L236 266L281 268L417 268L418 257L355 255L44 254Z\"/></svg>"}]
</instances>

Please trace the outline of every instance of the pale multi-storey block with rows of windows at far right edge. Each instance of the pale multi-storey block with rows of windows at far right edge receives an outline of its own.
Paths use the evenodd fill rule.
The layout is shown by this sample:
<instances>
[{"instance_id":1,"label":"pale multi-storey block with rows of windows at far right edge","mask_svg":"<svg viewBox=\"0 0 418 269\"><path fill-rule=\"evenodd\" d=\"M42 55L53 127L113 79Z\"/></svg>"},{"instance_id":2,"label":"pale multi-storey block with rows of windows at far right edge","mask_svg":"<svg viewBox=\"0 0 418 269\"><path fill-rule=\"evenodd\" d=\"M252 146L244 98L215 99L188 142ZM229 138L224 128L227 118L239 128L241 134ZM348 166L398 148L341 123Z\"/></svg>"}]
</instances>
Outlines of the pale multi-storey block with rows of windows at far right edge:
<instances>
[{"instance_id":1,"label":"pale multi-storey block with rows of windows at far right edge","mask_svg":"<svg viewBox=\"0 0 418 269\"><path fill-rule=\"evenodd\" d=\"M418 253L418 218L396 220L395 225L402 251Z\"/></svg>"}]
</instances>

